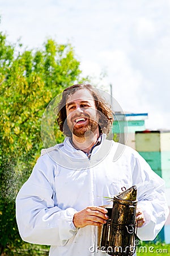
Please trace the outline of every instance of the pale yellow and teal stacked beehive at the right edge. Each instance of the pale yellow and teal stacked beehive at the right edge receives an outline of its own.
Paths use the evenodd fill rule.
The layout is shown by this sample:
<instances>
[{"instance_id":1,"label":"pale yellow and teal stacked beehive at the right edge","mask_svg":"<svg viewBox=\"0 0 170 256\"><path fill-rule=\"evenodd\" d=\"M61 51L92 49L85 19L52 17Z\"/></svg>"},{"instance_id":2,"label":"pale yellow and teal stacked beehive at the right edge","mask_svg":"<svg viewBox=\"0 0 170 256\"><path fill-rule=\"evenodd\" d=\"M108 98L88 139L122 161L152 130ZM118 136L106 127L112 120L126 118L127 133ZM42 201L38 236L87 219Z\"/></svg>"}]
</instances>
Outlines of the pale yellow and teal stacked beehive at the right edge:
<instances>
[{"instance_id":1,"label":"pale yellow and teal stacked beehive at the right edge","mask_svg":"<svg viewBox=\"0 0 170 256\"><path fill-rule=\"evenodd\" d=\"M170 208L170 131L136 131L136 150L165 181L165 196ZM170 243L170 216L156 241Z\"/></svg>"}]
</instances>

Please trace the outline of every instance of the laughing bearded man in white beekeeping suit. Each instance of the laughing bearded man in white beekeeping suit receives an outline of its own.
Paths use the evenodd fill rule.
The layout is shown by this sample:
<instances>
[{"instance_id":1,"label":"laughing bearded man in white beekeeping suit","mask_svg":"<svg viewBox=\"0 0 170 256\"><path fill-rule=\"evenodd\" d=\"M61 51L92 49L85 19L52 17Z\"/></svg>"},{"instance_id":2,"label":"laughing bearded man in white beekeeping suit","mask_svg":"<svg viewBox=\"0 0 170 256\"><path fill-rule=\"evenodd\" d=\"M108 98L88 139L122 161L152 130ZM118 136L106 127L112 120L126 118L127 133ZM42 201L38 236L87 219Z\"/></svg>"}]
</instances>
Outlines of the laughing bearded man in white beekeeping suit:
<instances>
[{"instance_id":1,"label":"laughing bearded man in white beekeeping suit","mask_svg":"<svg viewBox=\"0 0 170 256\"><path fill-rule=\"evenodd\" d=\"M97 249L97 226L108 219L101 206L132 185L138 237L154 240L168 216L164 182L132 148L105 138L113 115L96 89L65 89L57 111L65 141L42 150L16 198L23 240L50 245L51 256L107 255Z\"/></svg>"}]
</instances>

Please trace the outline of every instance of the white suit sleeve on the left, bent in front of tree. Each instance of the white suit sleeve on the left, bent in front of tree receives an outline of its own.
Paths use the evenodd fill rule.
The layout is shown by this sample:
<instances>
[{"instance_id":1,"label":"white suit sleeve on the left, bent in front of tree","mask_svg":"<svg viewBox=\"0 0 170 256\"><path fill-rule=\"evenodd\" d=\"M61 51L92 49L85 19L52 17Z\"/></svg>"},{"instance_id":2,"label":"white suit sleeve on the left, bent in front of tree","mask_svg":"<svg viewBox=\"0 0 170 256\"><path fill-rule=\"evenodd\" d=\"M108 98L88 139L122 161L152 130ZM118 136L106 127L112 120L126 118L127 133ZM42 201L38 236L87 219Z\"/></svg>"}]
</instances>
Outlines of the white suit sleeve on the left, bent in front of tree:
<instances>
[{"instance_id":1,"label":"white suit sleeve on the left, bent in front of tree","mask_svg":"<svg viewBox=\"0 0 170 256\"><path fill-rule=\"evenodd\" d=\"M60 209L54 203L54 165L40 158L16 197L16 221L26 242L65 245L78 231L74 208Z\"/></svg>"}]
</instances>

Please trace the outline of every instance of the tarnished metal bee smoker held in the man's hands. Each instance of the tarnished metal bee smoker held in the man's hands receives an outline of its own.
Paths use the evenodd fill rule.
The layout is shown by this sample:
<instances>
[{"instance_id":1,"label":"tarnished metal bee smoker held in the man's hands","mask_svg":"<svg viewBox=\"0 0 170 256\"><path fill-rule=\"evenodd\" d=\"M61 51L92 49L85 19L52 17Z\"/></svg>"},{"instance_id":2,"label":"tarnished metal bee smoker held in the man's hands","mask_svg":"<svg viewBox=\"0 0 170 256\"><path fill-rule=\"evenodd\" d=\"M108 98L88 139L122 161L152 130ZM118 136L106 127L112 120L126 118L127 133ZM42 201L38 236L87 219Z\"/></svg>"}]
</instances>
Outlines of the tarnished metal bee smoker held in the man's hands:
<instances>
[{"instance_id":1,"label":"tarnished metal bee smoker held in the man's hands","mask_svg":"<svg viewBox=\"0 0 170 256\"><path fill-rule=\"evenodd\" d=\"M133 186L113 198L107 208L108 221L99 228L98 246L109 255L131 256L135 252L137 187Z\"/></svg>"}]
</instances>

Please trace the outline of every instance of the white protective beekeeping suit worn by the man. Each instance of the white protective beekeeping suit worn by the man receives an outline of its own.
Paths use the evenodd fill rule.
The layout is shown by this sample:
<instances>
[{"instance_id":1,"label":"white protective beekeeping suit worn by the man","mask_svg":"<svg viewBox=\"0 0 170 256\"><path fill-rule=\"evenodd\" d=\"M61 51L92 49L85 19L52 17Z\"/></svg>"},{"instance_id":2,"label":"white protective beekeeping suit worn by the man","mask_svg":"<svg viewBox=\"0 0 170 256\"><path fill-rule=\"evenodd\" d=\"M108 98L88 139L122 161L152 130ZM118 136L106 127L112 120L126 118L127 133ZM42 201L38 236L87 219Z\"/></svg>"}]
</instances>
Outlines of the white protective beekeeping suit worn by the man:
<instances>
[{"instance_id":1,"label":"white protective beekeeping suit worn by the man","mask_svg":"<svg viewBox=\"0 0 170 256\"><path fill-rule=\"evenodd\" d=\"M45 154L44 154L45 153ZM42 152L16 197L16 220L24 241L50 245L50 256L108 255L96 248L97 227L75 228L74 213L108 204L121 188L138 187L138 206L146 222L141 240L154 240L168 216L164 181L128 146L105 135L91 158L69 138Z\"/></svg>"}]
</instances>

